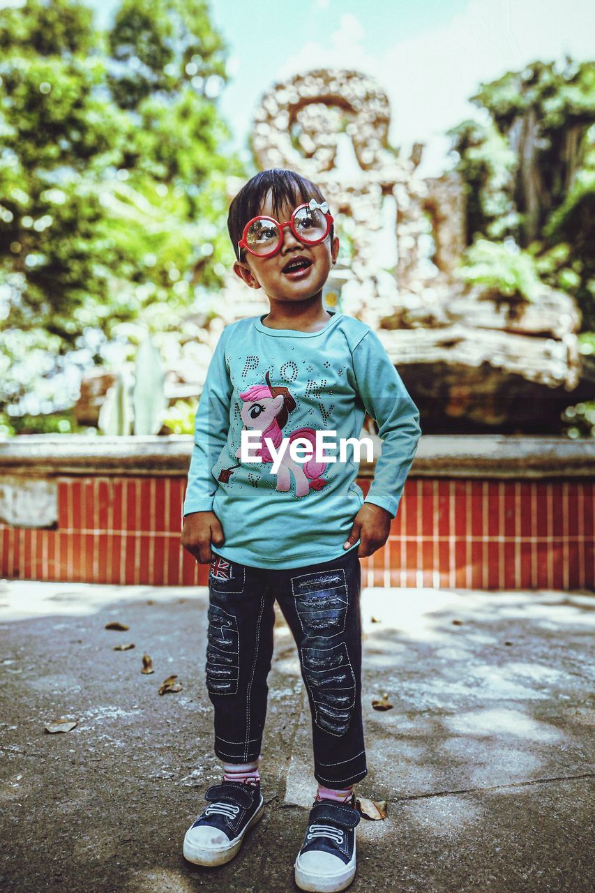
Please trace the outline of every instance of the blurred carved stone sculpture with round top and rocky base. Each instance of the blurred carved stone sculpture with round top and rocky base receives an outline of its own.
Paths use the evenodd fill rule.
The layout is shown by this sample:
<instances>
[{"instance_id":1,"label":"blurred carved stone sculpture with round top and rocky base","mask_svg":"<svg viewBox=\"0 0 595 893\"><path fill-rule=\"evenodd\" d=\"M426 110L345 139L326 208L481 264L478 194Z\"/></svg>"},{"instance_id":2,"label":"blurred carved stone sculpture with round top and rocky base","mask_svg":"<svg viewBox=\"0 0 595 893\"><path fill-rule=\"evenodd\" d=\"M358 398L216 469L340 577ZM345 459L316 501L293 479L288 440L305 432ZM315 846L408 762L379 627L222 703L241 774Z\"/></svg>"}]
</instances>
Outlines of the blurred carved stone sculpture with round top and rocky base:
<instances>
[{"instance_id":1,"label":"blurred carved stone sculpture with round top and rocky base","mask_svg":"<svg viewBox=\"0 0 595 893\"><path fill-rule=\"evenodd\" d=\"M573 298L544 285L527 304L465 287L457 277L466 245L462 183L454 171L420 178L423 145L399 154L389 144L389 124L389 100L375 80L316 69L263 96L251 146L262 170L289 168L323 190L341 237L331 288L334 280L345 313L379 331L436 430L448 430L455 418L473 419L473 430L482 422L488 430L524 421L532 430L558 426L570 392L576 389L577 399L585 393ZM241 185L230 179L229 196ZM222 311L230 319L268 309L259 291L242 297L231 282L230 290L233 300ZM491 408L482 386L488 380L496 394ZM479 405L465 398L473 393L482 395ZM522 412L512 409L517 393Z\"/></svg>"}]
</instances>

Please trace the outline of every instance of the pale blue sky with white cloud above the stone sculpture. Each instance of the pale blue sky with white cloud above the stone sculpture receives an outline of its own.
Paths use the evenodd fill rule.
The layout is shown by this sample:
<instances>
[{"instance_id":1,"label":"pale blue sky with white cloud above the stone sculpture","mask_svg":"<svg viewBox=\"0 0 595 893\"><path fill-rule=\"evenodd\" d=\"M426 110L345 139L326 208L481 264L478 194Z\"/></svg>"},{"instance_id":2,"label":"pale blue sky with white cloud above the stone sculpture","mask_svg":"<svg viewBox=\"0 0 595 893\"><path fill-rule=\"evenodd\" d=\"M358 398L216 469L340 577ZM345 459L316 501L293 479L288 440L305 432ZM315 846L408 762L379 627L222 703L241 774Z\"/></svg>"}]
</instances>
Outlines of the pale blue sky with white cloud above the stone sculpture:
<instances>
[{"instance_id":1,"label":"pale blue sky with white cloud above the stone sculpture","mask_svg":"<svg viewBox=\"0 0 595 893\"><path fill-rule=\"evenodd\" d=\"M118 4L87 2L99 25ZM438 176L452 164L446 131L478 116L469 97L482 82L565 54L595 61L592 0L211 0L210 9L230 53L219 108L245 155L256 106L275 81L336 66L379 81L391 144L408 154L424 143L419 173Z\"/></svg>"}]
</instances>

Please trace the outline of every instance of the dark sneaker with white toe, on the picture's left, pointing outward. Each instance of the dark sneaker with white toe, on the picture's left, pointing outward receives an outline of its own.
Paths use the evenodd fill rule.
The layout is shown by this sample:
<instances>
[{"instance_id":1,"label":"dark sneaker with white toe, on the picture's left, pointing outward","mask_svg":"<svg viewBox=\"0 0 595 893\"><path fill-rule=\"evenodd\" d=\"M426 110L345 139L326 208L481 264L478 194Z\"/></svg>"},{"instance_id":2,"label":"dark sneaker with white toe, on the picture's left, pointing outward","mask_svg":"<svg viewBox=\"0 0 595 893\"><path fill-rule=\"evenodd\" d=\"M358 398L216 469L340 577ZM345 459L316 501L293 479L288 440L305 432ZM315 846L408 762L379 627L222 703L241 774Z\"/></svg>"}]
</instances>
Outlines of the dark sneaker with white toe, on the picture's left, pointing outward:
<instances>
[{"instance_id":1,"label":"dark sneaker with white toe, on the picture's left, pointing outward","mask_svg":"<svg viewBox=\"0 0 595 893\"><path fill-rule=\"evenodd\" d=\"M249 828L264 813L260 784L222 781L205 794L209 805L186 831L184 858L195 865L222 865L239 851Z\"/></svg>"}]
</instances>

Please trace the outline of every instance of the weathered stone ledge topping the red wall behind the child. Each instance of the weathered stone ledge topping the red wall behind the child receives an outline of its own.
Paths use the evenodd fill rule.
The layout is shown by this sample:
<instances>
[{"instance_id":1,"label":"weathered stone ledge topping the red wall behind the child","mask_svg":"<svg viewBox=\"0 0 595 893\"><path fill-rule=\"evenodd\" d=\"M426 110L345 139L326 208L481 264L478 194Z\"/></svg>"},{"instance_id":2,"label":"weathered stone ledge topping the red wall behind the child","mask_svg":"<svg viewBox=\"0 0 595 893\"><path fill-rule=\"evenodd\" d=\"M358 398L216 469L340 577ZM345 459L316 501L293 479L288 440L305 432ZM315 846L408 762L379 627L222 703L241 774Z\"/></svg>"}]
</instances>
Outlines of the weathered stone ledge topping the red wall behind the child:
<instances>
[{"instance_id":1,"label":"weathered stone ledge topping the red wall behind the child","mask_svg":"<svg viewBox=\"0 0 595 893\"><path fill-rule=\"evenodd\" d=\"M370 436L368 432L362 432ZM381 440L373 438L374 454ZM93 437L26 434L0 440L0 475L105 474L180 477L188 473L192 437ZM375 461L360 463L373 477ZM549 435L423 435L411 477L542 478L595 475L595 440Z\"/></svg>"}]
</instances>

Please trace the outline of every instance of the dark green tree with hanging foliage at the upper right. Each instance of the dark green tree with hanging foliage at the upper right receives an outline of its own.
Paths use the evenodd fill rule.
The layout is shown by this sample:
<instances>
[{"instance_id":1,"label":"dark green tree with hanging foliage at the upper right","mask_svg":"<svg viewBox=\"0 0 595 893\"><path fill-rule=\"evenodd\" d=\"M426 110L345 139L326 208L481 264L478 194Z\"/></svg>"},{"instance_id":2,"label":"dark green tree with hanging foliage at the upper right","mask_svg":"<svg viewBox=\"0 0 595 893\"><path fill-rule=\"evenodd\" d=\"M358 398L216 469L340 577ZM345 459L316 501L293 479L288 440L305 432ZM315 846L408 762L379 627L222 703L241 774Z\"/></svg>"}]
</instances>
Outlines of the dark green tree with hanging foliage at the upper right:
<instances>
[{"instance_id":1,"label":"dark green tree with hanging foliage at the upper right","mask_svg":"<svg viewBox=\"0 0 595 893\"><path fill-rule=\"evenodd\" d=\"M483 121L449 131L469 244L514 240L595 328L595 65L532 63L482 85L473 102Z\"/></svg>"}]
</instances>

